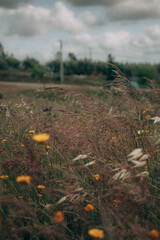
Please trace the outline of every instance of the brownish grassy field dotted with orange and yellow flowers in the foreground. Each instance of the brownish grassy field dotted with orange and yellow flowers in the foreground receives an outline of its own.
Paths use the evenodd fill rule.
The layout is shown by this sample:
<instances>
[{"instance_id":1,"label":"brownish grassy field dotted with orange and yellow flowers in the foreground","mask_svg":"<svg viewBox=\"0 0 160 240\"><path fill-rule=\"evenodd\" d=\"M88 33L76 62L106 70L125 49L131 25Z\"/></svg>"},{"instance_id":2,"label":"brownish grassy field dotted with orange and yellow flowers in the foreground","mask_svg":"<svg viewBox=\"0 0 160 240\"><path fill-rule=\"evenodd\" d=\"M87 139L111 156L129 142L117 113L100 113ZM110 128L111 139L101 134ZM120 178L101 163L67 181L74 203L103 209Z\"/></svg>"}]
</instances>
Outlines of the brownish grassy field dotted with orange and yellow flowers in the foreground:
<instances>
[{"instance_id":1,"label":"brownish grassy field dotted with orange and yellow flowers in the foreground","mask_svg":"<svg viewBox=\"0 0 160 240\"><path fill-rule=\"evenodd\" d=\"M1 88L1 240L159 239L160 92L125 81Z\"/></svg>"}]
</instances>

